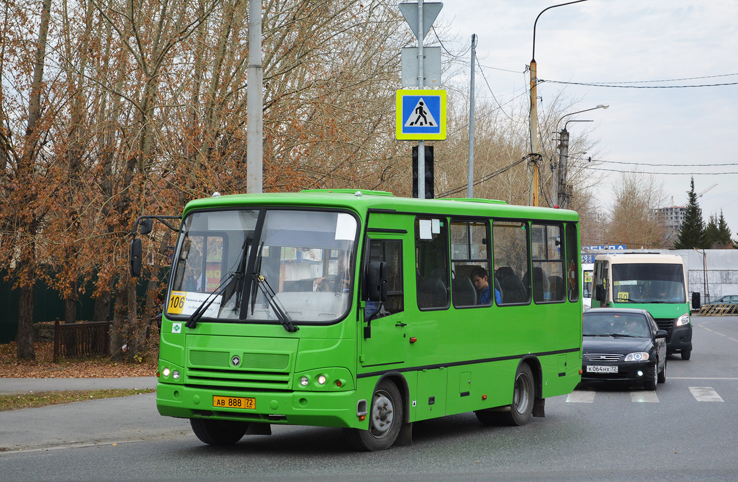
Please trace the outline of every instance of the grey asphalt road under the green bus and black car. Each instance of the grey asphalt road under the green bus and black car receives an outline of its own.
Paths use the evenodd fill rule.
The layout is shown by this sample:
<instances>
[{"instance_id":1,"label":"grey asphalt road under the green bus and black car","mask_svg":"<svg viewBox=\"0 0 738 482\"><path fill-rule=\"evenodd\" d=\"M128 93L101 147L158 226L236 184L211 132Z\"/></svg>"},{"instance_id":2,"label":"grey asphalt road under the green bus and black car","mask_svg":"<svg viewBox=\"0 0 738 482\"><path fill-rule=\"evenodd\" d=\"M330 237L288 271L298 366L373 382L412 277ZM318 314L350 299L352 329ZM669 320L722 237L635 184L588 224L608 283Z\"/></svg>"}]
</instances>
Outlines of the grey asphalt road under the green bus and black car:
<instances>
[{"instance_id":1,"label":"grey asphalt road under the green bus and black car","mask_svg":"<svg viewBox=\"0 0 738 482\"><path fill-rule=\"evenodd\" d=\"M0 413L4 480L736 481L738 317L693 317L692 359L656 392L595 385L525 427L472 413L416 423L413 445L354 452L341 430L272 427L210 447L154 394ZM18 450L25 446L24 450Z\"/></svg>"}]
</instances>

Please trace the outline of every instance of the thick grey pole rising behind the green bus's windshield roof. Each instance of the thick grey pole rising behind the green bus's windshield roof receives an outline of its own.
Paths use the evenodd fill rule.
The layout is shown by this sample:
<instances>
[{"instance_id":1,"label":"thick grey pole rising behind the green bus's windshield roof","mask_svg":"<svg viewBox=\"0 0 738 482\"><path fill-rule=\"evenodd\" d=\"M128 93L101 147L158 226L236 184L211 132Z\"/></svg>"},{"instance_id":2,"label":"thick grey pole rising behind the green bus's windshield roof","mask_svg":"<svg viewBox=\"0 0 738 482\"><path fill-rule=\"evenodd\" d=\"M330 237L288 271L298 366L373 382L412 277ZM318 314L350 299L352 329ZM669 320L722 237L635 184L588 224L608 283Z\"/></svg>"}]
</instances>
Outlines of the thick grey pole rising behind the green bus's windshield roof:
<instances>
[{"instance_id":1,"label":"thick grey pole rising behind the green bus's windshield roof","mask_svg":"<svg viewBox=\"0 0 738 482\"><path fill-rule=\"evenodd\" d=\"M246 69L246 192L263 187L263 67L261 0L249 0L249 66Z\"/></svg>"}]
</instances>

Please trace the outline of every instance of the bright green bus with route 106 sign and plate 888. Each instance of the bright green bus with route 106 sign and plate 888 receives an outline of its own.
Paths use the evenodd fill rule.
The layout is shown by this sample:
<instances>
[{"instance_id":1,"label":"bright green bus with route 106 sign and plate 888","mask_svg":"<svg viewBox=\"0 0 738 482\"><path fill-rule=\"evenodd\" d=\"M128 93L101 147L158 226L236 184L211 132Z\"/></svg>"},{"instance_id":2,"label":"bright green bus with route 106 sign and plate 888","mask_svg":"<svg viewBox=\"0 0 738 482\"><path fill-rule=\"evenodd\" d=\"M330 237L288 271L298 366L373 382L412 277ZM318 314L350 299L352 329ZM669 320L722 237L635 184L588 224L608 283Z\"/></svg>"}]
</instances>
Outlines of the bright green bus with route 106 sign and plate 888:
<instances>
[{"instance_id":1,"label":"bright green bus with route 106 sign and plate 888","mask_svg":"<svg viewBox=\"0 0 738 482\"><path fill-rule=\"evenodd\" d=\"M544 416L581 379L578 222L370 190L190 202L156 407L206 444L297 424L342 427L358 450L410 444L414 421L455 413ZM134 237L133 274L140 249Z\"/></svg>"}]
</instances>

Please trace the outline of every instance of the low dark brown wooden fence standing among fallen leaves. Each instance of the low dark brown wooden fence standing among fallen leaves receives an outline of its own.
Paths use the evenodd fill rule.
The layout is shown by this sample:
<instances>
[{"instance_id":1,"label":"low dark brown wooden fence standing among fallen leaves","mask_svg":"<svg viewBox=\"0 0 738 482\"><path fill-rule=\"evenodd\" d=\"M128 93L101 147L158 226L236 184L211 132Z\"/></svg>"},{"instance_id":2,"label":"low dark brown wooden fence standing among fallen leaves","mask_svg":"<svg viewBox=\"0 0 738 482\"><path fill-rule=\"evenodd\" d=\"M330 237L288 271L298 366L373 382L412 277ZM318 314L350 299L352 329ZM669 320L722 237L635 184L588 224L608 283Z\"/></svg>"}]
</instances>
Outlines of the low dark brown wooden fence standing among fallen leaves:
<instances>
[{"instance_id":1,"label":"low dark brown wooden fence standing among fallen leaves","mask_svg":"<svg viewBox=\"0 0 738 482\"><path fill-rule=\"evenodd\" d=\"M107 355L110 323L59 323L54 322L54 362L59 357L83 358Z\"/></svg>"}]
</instances>

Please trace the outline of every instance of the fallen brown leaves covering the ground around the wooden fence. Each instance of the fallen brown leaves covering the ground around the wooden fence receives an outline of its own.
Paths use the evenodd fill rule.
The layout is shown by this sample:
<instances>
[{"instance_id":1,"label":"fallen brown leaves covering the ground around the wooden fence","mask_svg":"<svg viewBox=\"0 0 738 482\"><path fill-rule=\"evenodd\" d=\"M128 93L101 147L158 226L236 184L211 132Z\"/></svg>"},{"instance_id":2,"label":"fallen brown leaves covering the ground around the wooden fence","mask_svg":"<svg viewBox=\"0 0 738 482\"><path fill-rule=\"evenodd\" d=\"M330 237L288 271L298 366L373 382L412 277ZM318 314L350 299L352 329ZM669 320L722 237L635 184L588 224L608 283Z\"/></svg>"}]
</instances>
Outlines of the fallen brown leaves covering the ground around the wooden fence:
<instances>
[{"instance_id":1,"label":"fallen brown leaves covering the ground around the wooden fence","mask_svg":"<svg viewBox=\"0 0 738 482\"><path fill-rule=\"evenodd\" d=\"M15 342L0 345L0 378L121 378L156 376L157 353L140 363L113 362L108 357L60 359L54 362L54 342L35 342L35 360L18 360Z\"/></svg>"}]
</instances>

